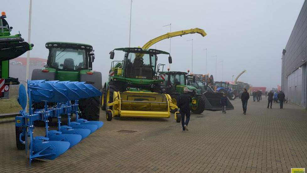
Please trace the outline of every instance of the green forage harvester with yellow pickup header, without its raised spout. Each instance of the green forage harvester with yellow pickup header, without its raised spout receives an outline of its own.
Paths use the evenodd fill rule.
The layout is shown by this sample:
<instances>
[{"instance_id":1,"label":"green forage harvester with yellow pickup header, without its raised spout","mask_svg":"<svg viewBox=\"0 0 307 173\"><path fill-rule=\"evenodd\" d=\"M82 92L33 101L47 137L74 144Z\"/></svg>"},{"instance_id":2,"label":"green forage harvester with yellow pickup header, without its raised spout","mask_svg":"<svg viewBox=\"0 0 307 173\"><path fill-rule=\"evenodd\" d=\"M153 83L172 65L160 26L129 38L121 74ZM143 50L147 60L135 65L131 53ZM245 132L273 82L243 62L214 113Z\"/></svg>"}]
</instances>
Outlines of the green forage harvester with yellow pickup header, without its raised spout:
<instances>
[{"instance_id":1,"label":"green forage harvester with yellow pickup header, without its raised spout","mask_svg":"<svg viewBox=\"0 0 307 173\"><path fill-rule=\"evenodd\" d=\"M171 109L178 109L169 94L161 94L163 80L156 77L157 55L170 53L140 47L116 48L110 52L123 51L124 60L113 61L109 80L105 83L102 107L106 109L106 119L120 117L169 118ZM175 119L180 122L179 112Z\"/></svg>"}]
</instances>

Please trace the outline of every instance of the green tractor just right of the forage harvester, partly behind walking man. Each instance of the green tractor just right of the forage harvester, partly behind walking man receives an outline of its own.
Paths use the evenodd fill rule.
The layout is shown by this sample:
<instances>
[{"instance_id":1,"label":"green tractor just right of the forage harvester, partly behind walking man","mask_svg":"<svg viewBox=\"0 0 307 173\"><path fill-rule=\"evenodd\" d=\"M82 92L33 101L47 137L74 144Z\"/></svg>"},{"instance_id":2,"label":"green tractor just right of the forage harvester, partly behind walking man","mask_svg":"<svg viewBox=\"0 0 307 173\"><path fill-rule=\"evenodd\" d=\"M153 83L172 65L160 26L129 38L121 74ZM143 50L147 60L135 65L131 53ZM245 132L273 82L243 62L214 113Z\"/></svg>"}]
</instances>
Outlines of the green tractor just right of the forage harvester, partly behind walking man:
<instances>
[{"instance_id":1,"label":"green tractor just right of the forage harvester, partly behind walking man","mask_svg":"<svg viewBox=\"0 0 307 173\"><path fill-rule=\"evenodd\" d=\"M159 64L164 66L164 64ZM189 76L186 72L181 71L161 71L158 73L159 79L163 80L163 86L165 92L170 94L172 103L177 105L177 100L180 94L183 93L184 88L188 88L189 94L191 95L191 111L195 114L201 114L205 110L205 103L202 98L200 90L191 85L187 85ZM195 76L192 76L192 80L195 82ZM177 110L174 109L171 112L175 113Z\"/></svg>"}]
</instances>

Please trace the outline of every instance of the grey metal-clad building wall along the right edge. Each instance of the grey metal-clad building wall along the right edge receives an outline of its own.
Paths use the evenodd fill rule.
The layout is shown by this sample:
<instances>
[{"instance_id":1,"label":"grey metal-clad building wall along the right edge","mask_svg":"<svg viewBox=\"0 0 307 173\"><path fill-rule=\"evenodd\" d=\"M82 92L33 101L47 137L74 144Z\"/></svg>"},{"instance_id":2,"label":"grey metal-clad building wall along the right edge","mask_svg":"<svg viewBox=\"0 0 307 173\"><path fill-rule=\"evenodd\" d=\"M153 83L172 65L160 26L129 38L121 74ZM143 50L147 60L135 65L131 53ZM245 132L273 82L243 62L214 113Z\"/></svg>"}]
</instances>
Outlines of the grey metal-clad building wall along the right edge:
<instances>
[{"instance_id":1,"label":"grey metal-clad building wall along the right edge","mask_svg":"<svg viewBox=\"0 0 307 173\"><path fill-rule=\"evenodd\" d=\"M291 32L285 50L286 52L282 55L282 72L281 72L282 90L285 91L286 97L292 98L292 101L294 103L297 103L302 106L305 105L307 109L306 70L305 70L305 64L307 60L307 1L306 0L299 13L298 19L296 20L296 23ZM298 96L298 94L300 96ZM300 97L302 101L299 101L298 97Z\"/></svg>"}]
</instances>

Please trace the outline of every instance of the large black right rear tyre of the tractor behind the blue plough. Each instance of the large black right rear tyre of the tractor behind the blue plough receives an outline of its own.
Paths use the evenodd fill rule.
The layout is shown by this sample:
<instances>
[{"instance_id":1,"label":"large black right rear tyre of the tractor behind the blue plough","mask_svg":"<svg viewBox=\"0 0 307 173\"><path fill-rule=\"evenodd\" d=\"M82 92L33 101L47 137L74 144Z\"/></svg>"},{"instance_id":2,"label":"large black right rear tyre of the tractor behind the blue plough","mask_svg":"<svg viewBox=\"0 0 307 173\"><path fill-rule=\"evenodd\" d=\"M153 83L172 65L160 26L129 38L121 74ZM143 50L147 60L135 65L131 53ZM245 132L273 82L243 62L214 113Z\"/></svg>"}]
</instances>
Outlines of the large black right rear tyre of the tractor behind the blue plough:
<instances>
[{"instance_id":1,"label":"large black right rear tyre of the tractor behind the blue plough","mask_svg":"<svg viewBox=\"0 0 307 173\"><path fill-rule=\"evenodd\" d=\"M99 120L100 97L90 97L79 101L79 109L86 120Z\"/></svg>"}]
</instances>

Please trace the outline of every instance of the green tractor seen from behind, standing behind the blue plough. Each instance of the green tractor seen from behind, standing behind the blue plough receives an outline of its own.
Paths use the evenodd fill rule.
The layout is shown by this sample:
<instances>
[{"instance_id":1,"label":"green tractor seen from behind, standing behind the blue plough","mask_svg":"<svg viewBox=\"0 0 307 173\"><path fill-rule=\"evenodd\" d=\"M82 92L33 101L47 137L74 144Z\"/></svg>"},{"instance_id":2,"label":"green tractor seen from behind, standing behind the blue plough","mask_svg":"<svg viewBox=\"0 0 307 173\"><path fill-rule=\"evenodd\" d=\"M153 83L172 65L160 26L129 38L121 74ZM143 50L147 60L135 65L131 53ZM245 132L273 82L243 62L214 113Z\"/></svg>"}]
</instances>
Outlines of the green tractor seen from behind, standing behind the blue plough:
<instances>
[{"instance_id":1,"label":"green tractor seen from behind, standing behind the blue plough","mask_svg":"<svg viewBox=\"0 0 307 173\"><path fill-rule=\"evenodd\" d=\"M44 69L34 69L31 80L82 81L101 90L101 73L92 69L95 55L91 45L47 42L45 46L49 50L47 64ZM52 106L53 103L48 104ZM100 96L82 98L78 105L84 119L99 120ZM43 107L43 102L33 104L34 109Z\"/></svg>"}]
</instances>

